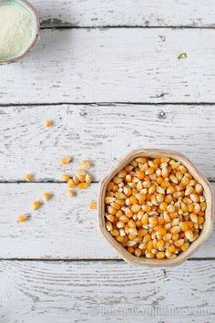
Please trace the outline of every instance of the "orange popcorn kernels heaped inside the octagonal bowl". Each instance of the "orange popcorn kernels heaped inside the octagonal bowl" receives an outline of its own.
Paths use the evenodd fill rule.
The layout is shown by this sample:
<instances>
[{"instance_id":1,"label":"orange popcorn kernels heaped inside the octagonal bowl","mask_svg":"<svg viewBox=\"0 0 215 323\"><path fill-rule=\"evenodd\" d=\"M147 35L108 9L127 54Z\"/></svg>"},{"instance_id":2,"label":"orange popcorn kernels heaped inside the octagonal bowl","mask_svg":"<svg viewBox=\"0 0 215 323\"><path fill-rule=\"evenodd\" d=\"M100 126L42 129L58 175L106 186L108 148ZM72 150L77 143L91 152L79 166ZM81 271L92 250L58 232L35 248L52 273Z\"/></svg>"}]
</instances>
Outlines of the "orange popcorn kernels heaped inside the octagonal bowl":
<instances>
[{"instance_id":1,"label":"orange popcorn kernels heaped inside the octagonal bowl","mask_svg":"<svg viewBox=\"0 0 215 323\"><path fill-rule=\"evenodd\" d=\"M203 187L168 157L138 157L107 184L107 231L138 257L186 251L200 235L205 209Z\"/></svg>"}]
</instances>

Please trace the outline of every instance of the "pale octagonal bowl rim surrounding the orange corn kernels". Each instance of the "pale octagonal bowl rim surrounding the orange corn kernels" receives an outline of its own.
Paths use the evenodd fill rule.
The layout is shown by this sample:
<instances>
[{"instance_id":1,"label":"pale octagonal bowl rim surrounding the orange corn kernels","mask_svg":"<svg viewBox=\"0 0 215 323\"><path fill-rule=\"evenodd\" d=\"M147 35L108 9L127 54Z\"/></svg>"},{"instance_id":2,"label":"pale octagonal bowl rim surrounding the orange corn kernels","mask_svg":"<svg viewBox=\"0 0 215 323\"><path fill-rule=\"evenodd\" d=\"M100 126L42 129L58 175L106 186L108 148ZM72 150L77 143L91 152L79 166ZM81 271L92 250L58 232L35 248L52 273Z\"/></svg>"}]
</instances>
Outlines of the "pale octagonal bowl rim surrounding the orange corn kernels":
<instances>
[{"instance_id":1,"label":"pale octagonal bowl rim surrounding the orange corn kernels","mask_svg":"<svg viewBox=\"0 0 215 323\"><path fill-rule=\"evenodd\" d=\"M135 158L139 156L145 157L170 157L176 161L181 162L190 172L190 174L203 186L204 189L204 197L206 199L206 210L205 210L205 222L203 224L203 229L201 230L199 238L193 241L189 248L179 254L174 259L148 259L146 257L137 257L135 255L131 255L128 251L118 243L115 238L108 233L105 225L105 193L107 188L107 183L125 166L128 165L129 162L132 162ZM118 254L128 263L140 266L178 266L187 260L191 255L193 255L196 250L202 245L210 236L212 231L212 215L213 215L213 191L210 186L210 182L200 173L200 171L196 168L196 166L189 161L187 157L182 155L177 151L167 151L167 150L159 150L159 149L139 149L137 151L131 151L128 156L123 158L118 165L113 168L107 176L100 182L99 191L97 196L97 213L98 213L98 225L101 234L107 239L107 242L112 245L117 251Z\"/></svg>"}]
</instances>

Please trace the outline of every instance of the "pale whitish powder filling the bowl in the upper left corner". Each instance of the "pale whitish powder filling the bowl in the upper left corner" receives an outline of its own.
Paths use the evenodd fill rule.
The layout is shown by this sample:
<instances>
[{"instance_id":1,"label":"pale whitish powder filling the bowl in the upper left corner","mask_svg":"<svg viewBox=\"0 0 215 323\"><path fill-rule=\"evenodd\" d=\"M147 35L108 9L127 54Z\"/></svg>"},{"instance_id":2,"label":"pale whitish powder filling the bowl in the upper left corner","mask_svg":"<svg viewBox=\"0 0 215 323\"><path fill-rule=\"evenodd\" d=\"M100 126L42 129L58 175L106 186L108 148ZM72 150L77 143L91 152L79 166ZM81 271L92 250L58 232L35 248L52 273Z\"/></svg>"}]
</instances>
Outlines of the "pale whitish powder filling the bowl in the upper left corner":
<instances>
[{"instance_id":1,"label":"pale whitish powder filling the bowl in the upper left corner","mask_svg":"<svg viewBox=\"0 0 215 323\"><path fill-rule=\"evenodd\" d=\"M0 60L21 55L30 44L33 21L25 8L0 0Z\"/></svg>"}]
</instances>

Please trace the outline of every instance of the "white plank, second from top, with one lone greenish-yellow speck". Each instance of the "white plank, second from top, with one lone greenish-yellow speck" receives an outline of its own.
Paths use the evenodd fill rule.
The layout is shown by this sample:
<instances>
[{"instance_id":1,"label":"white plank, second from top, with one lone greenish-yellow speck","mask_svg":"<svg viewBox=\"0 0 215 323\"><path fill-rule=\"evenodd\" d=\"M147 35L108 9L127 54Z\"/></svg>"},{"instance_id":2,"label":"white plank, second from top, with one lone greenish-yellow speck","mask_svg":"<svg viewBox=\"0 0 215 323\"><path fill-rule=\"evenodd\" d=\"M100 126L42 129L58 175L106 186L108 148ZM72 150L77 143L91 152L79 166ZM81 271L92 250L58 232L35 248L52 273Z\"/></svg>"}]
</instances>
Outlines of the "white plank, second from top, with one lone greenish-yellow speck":
<instances>
[{"instance_id":1,"label":"white plank, second from top, with one lone greenish-yellow speck","mask_svg":"<svg viewBox=\"0 0 215 323\"><path fill-rule=\"evenodd\" d=\"M1 67L0 101L215 102L214 65L215 30L48 29Z\"/></svg>"}]
</instances>

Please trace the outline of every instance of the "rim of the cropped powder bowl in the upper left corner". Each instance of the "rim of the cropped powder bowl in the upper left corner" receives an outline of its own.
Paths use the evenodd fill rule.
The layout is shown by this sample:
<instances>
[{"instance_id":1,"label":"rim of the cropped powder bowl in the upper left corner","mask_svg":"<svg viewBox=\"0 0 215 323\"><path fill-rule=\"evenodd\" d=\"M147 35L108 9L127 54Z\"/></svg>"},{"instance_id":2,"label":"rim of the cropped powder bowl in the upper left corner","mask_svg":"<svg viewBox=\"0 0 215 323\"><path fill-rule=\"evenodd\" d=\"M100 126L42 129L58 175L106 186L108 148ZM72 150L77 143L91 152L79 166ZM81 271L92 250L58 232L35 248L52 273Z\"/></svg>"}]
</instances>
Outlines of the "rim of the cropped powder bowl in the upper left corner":
<instances>
[{"instance_id":1,"label":"rim of the cropped powder bowl in the upper left corner","mask_svg":"<svg viewBox=\"0 0 215 323\"><path fill-rule=\"evenodd\" d=\"M32 41L29 43L29 45L26 47L25 52L23 52L21 55L14 57L14 58L8 58L8 59L2 59L2 60L0 59L0 65L17 62L17 61L23 59L24 57L26 57L26 55L31 50L31 48L36 45L36 43L38 42L39 37L40 37L39 16L38 16L35 6L32 5L30 2L28 2L27 0L12 0L11 2L20 3L21 5L26 7L26 10L28 10L32 13L32 15L34 17L35 36L33 37Z\"/></svg>"}]
</instances>

